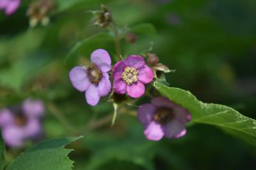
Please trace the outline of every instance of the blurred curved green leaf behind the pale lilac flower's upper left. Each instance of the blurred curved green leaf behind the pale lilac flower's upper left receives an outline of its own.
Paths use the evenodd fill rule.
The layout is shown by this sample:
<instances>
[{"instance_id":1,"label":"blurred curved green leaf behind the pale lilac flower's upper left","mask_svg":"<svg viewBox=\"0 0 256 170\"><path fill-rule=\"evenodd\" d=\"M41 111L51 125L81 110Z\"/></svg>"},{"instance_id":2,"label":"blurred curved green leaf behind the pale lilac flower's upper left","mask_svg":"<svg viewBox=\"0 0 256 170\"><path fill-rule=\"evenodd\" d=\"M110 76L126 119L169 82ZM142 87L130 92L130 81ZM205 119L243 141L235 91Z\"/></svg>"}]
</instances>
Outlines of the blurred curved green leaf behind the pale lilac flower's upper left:
<instances>
[{"instance_id":1,"label":"blurred curved green leaf behind the pale lilac flower's upper left","mask_svg":"<svg viewBox=\"0 0 256 170\"><path fill-rule=\"evenodd\" d=\"M66 55L65 63L68 68L71 68L75 65L78 65L79 57L89 57L91 52L97 48L105 48L107 45L113 43L114 37L106 32L100 32L94 34L89 38L86 38L82 41L79 41L73 48L70 50L68 55Z\"/></svg>"}]
</instances>

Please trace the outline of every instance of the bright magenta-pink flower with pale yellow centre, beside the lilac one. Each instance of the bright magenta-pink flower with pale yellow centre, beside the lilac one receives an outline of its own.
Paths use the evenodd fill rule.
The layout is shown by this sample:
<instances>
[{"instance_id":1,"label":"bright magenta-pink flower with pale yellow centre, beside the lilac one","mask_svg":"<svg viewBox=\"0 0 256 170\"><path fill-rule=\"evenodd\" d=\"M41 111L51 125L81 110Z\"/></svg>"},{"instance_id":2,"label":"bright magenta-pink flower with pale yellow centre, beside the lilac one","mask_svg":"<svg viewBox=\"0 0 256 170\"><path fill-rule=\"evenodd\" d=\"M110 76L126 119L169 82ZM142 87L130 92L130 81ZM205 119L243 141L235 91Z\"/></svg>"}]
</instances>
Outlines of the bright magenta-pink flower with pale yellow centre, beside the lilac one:
<instances>
[{"instance_id":1,"label":"bright magenta-pink flower with pale yellow centre, beside the lilac one","mask_svg":"<svg viewBox=\"0 0 256 170\"><path fill-rule=\"evenodd\" d=\"M138 55L130 55L113 67L113 89L118 94L138 98L145 92L145 85L153 80L153 71Z\"/></svg>"}]
</instances>

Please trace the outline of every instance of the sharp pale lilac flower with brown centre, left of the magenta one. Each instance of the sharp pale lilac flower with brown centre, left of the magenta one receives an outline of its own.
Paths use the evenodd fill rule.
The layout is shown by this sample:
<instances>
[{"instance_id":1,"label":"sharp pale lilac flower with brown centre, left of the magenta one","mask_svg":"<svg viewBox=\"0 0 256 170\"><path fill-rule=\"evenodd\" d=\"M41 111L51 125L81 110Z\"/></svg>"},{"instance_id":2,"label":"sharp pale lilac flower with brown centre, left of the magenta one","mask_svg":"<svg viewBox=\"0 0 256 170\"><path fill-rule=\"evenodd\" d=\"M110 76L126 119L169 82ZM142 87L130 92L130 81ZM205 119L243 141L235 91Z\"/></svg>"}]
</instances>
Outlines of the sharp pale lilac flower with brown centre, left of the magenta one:
<instances>
[{"instance_id":1,"label":"sharp pale lilac flower with brown centre, left of the magenta one","mask_svg":"<svg viewBox=\"0 0 256 170\"><path fill-rule=\"evenodd\" d=\"M111 69L111 59L107 51L98 49L91 53L91 62L89 67L73 67L70 80L75 89L86 92L87 103L95 106L100 97L107 96L111 90L107 73Z\"/></svg>"}]
</instances>

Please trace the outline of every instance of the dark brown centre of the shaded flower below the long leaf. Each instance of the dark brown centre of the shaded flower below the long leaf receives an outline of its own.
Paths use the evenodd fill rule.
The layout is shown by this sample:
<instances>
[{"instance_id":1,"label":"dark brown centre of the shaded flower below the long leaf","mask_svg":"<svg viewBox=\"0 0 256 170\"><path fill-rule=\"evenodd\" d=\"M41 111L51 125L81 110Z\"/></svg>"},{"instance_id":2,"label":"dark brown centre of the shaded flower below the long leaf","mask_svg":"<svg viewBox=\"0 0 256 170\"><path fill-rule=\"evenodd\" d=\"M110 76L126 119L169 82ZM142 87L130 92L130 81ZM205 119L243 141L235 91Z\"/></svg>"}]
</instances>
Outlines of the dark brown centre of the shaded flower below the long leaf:
<instances>
[{"instance_id":1,"label":"dark brown centre of the shaded flower below the long leaf","mask_svg":"<svg viewBox=\"0 0 256 170\"><path fill-rule=\"evenodd\" d=\"M158 108L153 118L154 121L164 125L174 118L174 111L170 108Z\"/></svg>"}]
</instances>

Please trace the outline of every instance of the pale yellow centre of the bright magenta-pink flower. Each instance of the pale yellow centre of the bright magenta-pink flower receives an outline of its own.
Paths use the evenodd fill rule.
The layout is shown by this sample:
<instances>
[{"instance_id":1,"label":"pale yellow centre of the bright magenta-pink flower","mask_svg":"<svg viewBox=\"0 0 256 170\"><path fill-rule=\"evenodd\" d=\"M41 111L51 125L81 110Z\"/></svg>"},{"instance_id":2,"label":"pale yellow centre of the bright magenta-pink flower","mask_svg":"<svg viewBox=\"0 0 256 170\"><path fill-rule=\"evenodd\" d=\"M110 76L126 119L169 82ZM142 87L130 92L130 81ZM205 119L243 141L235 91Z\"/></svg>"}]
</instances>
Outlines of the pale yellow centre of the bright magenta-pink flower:
<instances>
[{"instance_id":1,"label":"pale yellow centre of the bright magenta-pink flower","mask_svg":"<svg viewBox=\"0 0 256 170\"><path fill-rule=\"evenodd\" d=\"M137 69L126 67L122 73L122 79L126 84L131 85L138 81L138 73L139 71L137 71Z\"/></svg>"}]
</instances>

